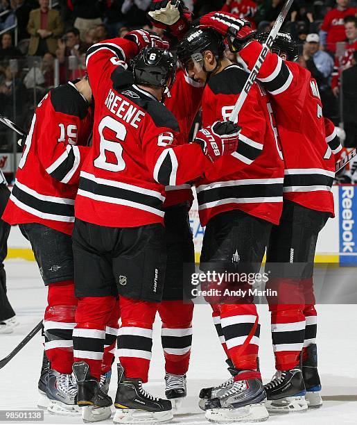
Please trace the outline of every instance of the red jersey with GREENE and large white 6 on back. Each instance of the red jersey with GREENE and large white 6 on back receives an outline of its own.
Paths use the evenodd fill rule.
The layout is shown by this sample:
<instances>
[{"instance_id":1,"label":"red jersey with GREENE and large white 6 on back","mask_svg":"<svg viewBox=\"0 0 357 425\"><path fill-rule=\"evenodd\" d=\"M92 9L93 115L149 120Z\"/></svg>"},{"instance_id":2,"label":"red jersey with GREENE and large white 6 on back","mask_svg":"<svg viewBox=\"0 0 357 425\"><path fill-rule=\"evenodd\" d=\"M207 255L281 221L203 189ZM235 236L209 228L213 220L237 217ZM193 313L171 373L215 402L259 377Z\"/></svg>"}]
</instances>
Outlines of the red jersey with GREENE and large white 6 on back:
<instances>
[{"instance_id":1,"label":"red jersey with GREENE and large white 6 on back","mask_svg":"<svg viewBox=\"0 0 357 425\"><path fill-rule=\"evenodd\" d=\"M114 39L87 51L96 108L76 217L100 226L163 223L164 186L186 183L211 164L198 144L171 147L177 121L152 94L137 85L116 85L127 49L128 40Z\"/></svg>"}]
</instances>

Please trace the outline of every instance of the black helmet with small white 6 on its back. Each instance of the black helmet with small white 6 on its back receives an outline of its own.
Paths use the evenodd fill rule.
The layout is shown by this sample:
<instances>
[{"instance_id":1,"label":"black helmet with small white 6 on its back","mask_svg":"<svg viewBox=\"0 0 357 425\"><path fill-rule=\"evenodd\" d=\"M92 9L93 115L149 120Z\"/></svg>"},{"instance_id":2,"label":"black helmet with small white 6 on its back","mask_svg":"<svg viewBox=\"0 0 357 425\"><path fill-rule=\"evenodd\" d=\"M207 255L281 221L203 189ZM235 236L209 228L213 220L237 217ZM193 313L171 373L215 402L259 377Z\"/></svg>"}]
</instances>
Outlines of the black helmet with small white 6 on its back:
<instances>
[{"instance_id":1,"label":"black helmet with small white 6 on its back","mask_svg":"<svg viewBox=\"0 0 357 425\"><path fill-rule=\"evenodd\" d=\"M130 61L130 65L135 84L166 88L169 81L170 87L175 81L175 58L166 49L145 47Z\"/></svg>"}]
</instances>

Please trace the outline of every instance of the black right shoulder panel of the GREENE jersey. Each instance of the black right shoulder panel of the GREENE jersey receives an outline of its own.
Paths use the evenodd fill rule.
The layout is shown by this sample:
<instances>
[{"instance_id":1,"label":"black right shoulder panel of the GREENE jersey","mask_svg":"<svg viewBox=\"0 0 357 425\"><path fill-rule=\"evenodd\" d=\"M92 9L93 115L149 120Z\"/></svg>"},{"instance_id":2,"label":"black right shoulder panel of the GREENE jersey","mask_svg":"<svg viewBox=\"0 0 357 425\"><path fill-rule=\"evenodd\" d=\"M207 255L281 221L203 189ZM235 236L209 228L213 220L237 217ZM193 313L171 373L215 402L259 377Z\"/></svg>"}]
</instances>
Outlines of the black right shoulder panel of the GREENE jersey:
<instances>
[{"instance_id":1,"label":"black right shoulder panel of the GREENE jersey","mask_svg":"<svg viewBox=\"0 0 357 425\"><path fill-rule=\"evenodd\" d=\"M171 128L171 130L177 132L180 131L179 124L173 113L166 108L164 103L151 98L150 94L137 90L133 86L120 90L120 93L132 103L137 104L139 108L145 110L151 119L153 119L155 126Z\"/></svg>"}]
</instances>

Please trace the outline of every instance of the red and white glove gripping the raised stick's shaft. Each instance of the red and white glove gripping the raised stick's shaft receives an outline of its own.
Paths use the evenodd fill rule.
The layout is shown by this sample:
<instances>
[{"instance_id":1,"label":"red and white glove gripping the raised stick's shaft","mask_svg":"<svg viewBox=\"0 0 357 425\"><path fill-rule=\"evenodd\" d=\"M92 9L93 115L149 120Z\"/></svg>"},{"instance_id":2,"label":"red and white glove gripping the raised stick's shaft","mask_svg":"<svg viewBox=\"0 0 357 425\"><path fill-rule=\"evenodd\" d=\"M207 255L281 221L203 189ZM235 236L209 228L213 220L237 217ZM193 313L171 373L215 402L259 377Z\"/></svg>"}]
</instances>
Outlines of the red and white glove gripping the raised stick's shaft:
<instances>
[{"instance_id":1,"label":"red and white glove gripping the raised stick's shaft","mask_svg":"<svg viewBox=\"0 0 357 425\"><path fill-rule=\"evenodd\" d=\"M238 133L241 127L230 121L216 121L198 131L193 142L202 147L204 155L214 163L223 155L230 155L238 147Z\"/></svg>"}]
</instances>

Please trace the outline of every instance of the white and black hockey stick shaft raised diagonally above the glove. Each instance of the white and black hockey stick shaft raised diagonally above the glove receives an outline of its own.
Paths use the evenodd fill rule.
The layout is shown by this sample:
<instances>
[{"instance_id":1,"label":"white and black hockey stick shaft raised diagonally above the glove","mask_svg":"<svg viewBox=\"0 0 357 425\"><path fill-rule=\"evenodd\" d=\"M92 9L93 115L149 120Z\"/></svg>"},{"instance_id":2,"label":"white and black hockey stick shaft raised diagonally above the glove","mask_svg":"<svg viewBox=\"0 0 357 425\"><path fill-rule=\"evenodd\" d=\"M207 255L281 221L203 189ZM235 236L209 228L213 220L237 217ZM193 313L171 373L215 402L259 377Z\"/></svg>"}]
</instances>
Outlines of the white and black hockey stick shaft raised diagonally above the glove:
<instances>
[{"instance_id":1,"label":"white and black hockey stick shaft raised diagonally above the glove","mask_svg":"<svg viewBox=\"0 0 357 425\"><path fill-rule=\"evenodd\" d=\"M277 37L277 33L279 33L279 29L281 28L281 25L284 22L284 19L286 18L286 15L288 15L288 11L290 9L290 6L293 4L294 0L287 0L284 4L283 8L281 9L281 12L279 13L279 16L277 17L277 20L275 21L274 26L272 27L272 31L270 31L270 34L268 35L268 40L263 44L263 49L259 55L259 58L256 60L256 63L250 72L247 81L245 81L245 85L243 87L243 90L241 91L241 94L239 94L238 100L236 101L236 104L234 105L234 108L232 110L231 115L229 116L229 121L235 122L238 113L241 111L241 108L243 106L243 103L245 102L245 99L247 99L247 95L250 91L250 88L252 87L254 81L256 80L256 76L259 73L259 70L261 69L261 65L264 62L264 59L266 58L268 51L272 47L272 43L275 40L275 37Z\"/></svg>"}]
</instances>

